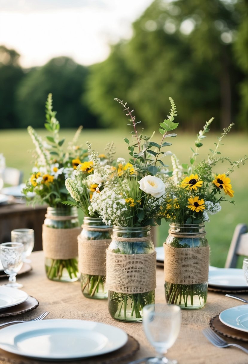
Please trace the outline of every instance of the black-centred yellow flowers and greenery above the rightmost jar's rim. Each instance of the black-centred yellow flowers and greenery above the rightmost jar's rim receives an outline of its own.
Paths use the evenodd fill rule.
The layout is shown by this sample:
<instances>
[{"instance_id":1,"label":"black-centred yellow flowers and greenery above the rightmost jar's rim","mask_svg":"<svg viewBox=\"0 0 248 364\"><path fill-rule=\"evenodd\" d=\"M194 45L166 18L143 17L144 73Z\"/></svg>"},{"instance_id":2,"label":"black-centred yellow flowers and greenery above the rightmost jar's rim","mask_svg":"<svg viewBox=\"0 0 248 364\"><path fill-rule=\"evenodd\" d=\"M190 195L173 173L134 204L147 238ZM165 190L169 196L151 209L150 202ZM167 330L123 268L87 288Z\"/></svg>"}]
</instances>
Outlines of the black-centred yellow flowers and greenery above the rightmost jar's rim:
<instances>
[{"instance_id":1,"label":"black-centred yellow flowers and greenery above the rightmost jar's rim","mask_svg":"<svg viewBox=\"0 0 248 364\"><path fill-rule=\"evenodd\" d=\"M209 221L209 215L221 210L220 203L227 201L226 197L233 197L231 180L229 174L234 168L239 168L244 164L247 157L240 158L232 162L228 157L221 157L219 147L223 143L223 138L231 131L234 124L224 128L215 148L210 149L207 160L203 159L196 163L199 155L199 148L203 145L202 141L206 138L205 134L209 131L211 118L197 134L195 150L189 164L180 165L175 154L171 156L172 176L167 179L166 192L160 199L159 215L166 221L178 224L194 224ZM218 162L228 161L230 167L227 171L213 172ZM230 201L234 203L234 201Z\"/></svg>"}]
</instances>

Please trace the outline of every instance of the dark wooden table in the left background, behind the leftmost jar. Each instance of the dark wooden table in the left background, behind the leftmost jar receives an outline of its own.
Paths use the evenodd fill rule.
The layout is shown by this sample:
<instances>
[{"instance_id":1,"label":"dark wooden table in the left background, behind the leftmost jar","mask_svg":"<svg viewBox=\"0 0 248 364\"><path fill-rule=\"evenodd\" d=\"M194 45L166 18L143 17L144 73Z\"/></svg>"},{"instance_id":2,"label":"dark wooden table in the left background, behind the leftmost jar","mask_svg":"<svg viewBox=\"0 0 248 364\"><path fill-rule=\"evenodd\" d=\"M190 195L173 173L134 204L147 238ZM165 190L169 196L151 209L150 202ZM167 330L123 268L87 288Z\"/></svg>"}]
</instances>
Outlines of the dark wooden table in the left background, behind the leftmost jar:
<instances>
[{"instance_id":1,"label":"dark wooden table in the left background, behind the leftmost jar","mask_svg":"<svg viewBox=\"0 0 248 364\"><path fill-rule=\"evenodd\" d=\"M46 206L27 206L25 203L0 205L0 244L11 241L11 230L35 230L35 250L42 249L42 224L45 219Z\"/></svg>"}]
</instances>

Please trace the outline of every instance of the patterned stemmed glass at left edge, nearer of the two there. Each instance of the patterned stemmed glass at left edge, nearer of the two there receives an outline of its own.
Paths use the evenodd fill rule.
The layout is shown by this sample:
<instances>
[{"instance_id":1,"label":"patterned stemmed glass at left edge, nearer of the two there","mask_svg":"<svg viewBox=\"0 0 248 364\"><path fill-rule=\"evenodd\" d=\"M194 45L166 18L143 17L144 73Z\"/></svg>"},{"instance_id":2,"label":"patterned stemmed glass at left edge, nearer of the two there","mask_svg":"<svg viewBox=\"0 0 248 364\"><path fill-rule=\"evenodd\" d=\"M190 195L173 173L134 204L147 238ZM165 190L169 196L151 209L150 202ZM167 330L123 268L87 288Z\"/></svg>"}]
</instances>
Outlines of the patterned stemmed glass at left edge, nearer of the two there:
<instances>
[{"instance_id":1,"label":"patterned stemmed glass at left edge, nearer of the two there","mask_svg":"<svg viewBox=\"0 0 248 364\"><path fill-rule=\"evenodd\" d=\"M0 259L4 272L9 275L6 287L21 288L23 284L16 282L16 274L23 265L23 244L17 242L0 244Z\"/></svg>"}]
</instances>

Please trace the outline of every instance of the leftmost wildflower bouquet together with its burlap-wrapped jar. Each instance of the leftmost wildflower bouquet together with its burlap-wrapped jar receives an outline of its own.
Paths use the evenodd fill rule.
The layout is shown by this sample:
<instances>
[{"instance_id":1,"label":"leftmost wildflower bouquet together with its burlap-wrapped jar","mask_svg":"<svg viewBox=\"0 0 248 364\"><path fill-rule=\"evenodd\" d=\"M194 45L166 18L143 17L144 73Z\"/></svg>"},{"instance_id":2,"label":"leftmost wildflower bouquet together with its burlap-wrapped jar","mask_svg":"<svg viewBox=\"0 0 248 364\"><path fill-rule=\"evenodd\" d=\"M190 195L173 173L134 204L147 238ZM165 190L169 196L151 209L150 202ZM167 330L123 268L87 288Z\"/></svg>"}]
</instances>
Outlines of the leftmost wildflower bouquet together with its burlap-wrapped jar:
<instances>
[{"instance_id":1,"label":"leftmost wildflower bouquet together with its burlap-wrapped jar","mask_svg":"<svg viewBox=\"0 0 248 364\"><path fill-rule=\"evenodd\" d=\"M31 126L28 127L28 133L35 145L35 166L23 192L26 195L32 193L31 201L33 204L45 203L49 206L43 225L43 249L46 256L45 266L48 278L70 281L78 279L76 246L73 248L75 258L57 257L71 256L70 247L75 245L75 235L79 234L78 229L80 227L75 208L72 210L71 207L64 205L64 202L71 198L65 188L65 179L74 178L79 164L84 165L86 176L88 171L92 169L92 165L88 160L87 150L77 144L82 127L78 128L72 142L68 143L68 147L64 151L65 139L59 137L60 124L56 119L56 112L52 109L52 94L49 94L45 105L45 128L51 135L48 135L45 141L37 135ZM30 200L30 198L27 199ZM47 231L44 230L45 228L50 229L49 233L45 233ZM55 237L55 234L59 234L60 229L63 229L63 238L60 238L60 242L64 240L62 245L68 250L66 253L59 251L61 246L57 246L56 243L58 237ZM68 241L65 241L67 235ZM56 252L51 251L53 247ZM68 278L65 279L66 274Z\"/></svg>"}]
</instances>

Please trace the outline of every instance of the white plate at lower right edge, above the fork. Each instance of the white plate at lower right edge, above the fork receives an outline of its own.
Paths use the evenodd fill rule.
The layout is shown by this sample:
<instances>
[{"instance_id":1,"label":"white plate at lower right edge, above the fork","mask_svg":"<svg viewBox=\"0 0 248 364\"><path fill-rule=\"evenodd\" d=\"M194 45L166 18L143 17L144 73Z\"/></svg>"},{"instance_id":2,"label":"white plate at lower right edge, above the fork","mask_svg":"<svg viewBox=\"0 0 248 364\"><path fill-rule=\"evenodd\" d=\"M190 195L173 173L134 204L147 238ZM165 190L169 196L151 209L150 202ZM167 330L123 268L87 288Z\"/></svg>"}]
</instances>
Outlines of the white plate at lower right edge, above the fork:
<instances>
[{"instance_id":1,"label":"white plate at lower right edge, above the fork","mask_svg":"<svg viewBox=\"0 0 248 364\"><path fill-rule=\"evenodd\" d=\"M224 325L248 332L248 305L228 308L220 313L219 319Z\"/></svg>"}]
</instances>

